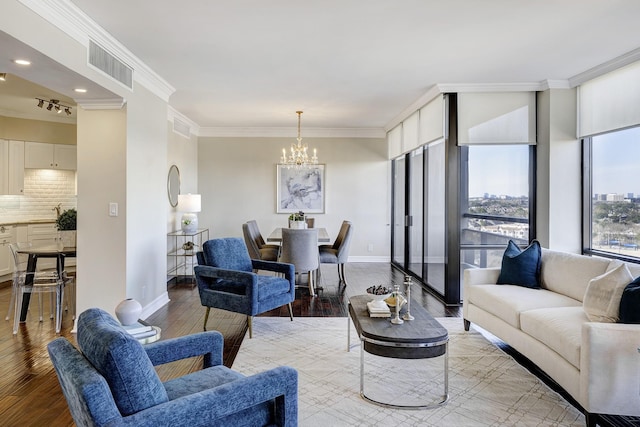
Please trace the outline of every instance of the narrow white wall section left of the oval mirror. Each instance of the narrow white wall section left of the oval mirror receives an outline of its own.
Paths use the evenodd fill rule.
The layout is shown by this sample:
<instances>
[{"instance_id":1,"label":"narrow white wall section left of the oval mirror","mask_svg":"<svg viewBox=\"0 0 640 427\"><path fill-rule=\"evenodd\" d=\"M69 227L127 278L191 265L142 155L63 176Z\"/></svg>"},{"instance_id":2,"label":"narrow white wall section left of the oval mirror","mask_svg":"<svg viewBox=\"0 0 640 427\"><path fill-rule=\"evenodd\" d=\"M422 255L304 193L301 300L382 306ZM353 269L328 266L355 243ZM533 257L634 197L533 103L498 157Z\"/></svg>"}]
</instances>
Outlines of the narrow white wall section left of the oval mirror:
<instances>
[{"instance_id":1,"label":"narrow white wall section left of the oval mirror","mask_svg":"<svg viewBox=\"0 0 640 427\"><path fill-rule=\"evenodd\" d=\"M135 85L127 97L127 297L145 315L166 304L167 104ZM106 208L106 207L105 207Z\"/></svg>"}]
</instances>

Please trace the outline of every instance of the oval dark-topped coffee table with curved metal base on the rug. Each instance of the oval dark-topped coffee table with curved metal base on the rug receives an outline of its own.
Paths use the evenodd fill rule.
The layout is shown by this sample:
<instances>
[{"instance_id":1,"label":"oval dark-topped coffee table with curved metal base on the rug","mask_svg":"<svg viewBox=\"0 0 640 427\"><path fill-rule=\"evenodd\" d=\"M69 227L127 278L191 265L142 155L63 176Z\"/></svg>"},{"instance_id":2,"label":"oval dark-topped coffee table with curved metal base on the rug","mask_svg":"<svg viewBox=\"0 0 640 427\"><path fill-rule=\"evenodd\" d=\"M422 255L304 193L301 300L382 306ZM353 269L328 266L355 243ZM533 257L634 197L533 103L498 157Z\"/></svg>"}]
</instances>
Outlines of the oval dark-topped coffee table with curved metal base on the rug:
<instances>
[{"instance_id":1,"label":"oval dark-topped coffee table with curved metal base on the rug","mask_svg":"<svg viewBox=\"0 0 640 427\"><path fill-rule=\"evenodd\" d=\"M411 305L414 320L394 325L390 318L370 317L367 303L371 295L349 298L349 318L360 338L360 396L368 402L400 409L430 409L449 400L449 332L419 304ZM392 317L393 318L393 314ZM348 322L348 320L347 320ZM351 328L347 323L347 350L350 350ZM444 390L433 402L421 405L401 405L373 399L365 393L364 353L397 359L426 359L443 356ZM427 380L425 380L427 381Z\"/></svg>"}]
</instances>

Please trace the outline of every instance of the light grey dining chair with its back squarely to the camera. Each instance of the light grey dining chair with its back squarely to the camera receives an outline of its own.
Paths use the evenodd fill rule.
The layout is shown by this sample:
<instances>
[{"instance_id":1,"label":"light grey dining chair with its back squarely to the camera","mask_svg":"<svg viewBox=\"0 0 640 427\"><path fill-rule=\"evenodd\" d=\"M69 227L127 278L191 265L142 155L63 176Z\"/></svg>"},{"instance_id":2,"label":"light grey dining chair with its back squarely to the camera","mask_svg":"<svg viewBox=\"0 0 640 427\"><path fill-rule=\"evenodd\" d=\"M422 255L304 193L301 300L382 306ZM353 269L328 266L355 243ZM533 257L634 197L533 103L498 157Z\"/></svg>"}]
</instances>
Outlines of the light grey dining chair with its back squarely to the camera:
<instances>
[{"instance_id":1,"label":"light grey dining chair with its back squarely to the camera","mask_svg":"<svg viewBox=\"0 0 640 427\"><path fill-rule=\"evenodd\" d=\"M296 273L308 273L309 294L316 296L315 282L320 266L317 229L283 228L279 261L293 264Z\"/></svg>"}]
</instances>

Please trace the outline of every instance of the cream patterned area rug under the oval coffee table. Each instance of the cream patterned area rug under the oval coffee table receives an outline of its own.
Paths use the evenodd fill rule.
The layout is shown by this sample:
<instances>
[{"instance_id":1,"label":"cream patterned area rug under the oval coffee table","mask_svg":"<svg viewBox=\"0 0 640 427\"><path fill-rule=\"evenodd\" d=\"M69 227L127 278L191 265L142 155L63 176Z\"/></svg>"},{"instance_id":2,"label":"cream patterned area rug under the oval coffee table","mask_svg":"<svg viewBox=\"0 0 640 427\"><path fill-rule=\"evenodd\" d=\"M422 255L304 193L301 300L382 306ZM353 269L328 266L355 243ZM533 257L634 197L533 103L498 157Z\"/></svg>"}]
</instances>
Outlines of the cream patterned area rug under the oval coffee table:
<instances>
[{"instance_id":1,"label":"cream patterned area rug under the oval coffee table","mask_svg":"<svg viewBox=\"0 0 640 427\"><path fill-rule=\"evenodd\" d=\"M347 318L256 317L253 338L245 337L233 368L251 375L294 367L303 427L584 426L581 412L473 326L465 332L460 318L438 320L450 337L450 397L434 409L388 408L360 397L360 344ZM443 362L442 357L404 360L365 353L365 392L397 404L437 401L443 394Z\"/></svg>"}]
</instances>

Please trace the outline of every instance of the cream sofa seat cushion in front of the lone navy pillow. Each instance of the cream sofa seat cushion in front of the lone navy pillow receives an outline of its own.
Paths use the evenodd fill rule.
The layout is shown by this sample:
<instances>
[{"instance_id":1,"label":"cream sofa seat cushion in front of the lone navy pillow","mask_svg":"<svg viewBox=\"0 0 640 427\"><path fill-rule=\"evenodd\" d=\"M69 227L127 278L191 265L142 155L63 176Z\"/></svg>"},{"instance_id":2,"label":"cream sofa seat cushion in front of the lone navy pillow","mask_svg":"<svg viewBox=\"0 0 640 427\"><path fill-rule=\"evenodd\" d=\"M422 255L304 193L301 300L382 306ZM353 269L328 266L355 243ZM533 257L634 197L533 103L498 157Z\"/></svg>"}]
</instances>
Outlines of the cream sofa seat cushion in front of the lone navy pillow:
<instances>
[{"instance_id":1,"label":"cream sofa seat cushion in front of the lone navy pillow","mask_svg":"<svg viewBox=\"0 0 640 427\"><path fill-rule=\"evenodd\" d=\"M514 285L470 285L465 288L464 298L465 302L518 329L520 313L524 311L547 307L582 307L580 301L565 295Z\"/></svg>"}]
</instances>

